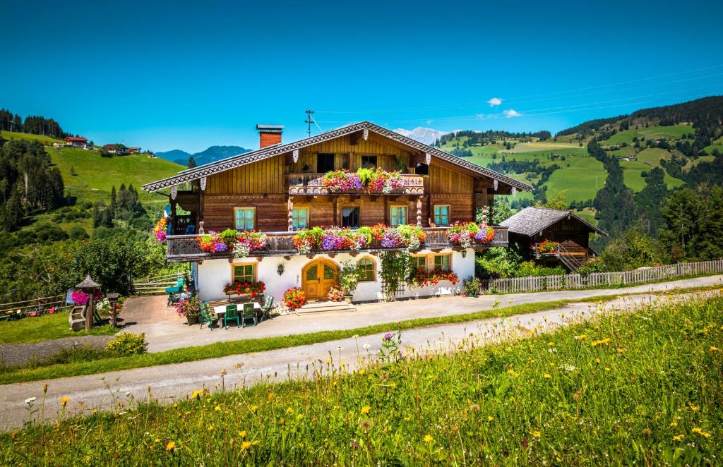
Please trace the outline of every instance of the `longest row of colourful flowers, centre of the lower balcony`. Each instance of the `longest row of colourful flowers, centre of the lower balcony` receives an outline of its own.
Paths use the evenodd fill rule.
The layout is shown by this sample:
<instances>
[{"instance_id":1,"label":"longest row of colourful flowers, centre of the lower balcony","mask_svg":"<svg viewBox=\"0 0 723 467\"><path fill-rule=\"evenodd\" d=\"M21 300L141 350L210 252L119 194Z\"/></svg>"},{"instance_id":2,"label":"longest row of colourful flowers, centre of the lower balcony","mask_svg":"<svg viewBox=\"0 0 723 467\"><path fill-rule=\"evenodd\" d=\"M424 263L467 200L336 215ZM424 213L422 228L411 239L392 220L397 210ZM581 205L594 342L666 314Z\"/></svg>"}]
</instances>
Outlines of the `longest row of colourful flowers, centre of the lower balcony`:
<instances>
[{"instance_id":1,"label":"longest row of colourful flowers, centre of the lower balcony","mask_svg":"<svg viewBox=\"0 0 723 467\"><path fill-rule=\"evenodd\" d=\"M294 235L294 247L301 254L309 252L353 251L370 247L372 241L380 241L382 248L417 249L424 242L421 227L398 226L389 228L383 224L372 227L348 228L307 228Z\"/></svg>"}]
</instances>

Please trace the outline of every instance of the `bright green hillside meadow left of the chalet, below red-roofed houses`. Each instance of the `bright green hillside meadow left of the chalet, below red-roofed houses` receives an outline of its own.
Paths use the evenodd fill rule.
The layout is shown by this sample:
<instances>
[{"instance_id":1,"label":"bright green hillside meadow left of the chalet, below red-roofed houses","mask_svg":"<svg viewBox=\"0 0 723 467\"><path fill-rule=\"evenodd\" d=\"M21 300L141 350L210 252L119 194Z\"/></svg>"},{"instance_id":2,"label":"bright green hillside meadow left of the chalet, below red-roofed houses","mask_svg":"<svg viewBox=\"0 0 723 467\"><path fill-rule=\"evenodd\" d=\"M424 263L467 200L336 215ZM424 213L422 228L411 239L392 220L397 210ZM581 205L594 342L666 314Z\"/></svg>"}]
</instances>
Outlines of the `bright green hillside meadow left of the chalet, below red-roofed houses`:
<instances>
[{"instance_id":1,"label":"bright green hillside meadow left of the chalet, below red-roofed houses","mask_svg":"<svg viewBox=\"0 0 723 467\"><path fill-rule=\"evenodd\" d=\"M149 158L145 154L100 157L100 153L75 147L46 147L53 163L60 168L65 187L79 200L108 199L111 187L121 183L133 184L140 200L145 204L166 205L168 197L149 194L140 189L142 184L173 176L184 166L169 160ZM71 175L71 168L76 175Z\"/></svg>"}]
</instances>

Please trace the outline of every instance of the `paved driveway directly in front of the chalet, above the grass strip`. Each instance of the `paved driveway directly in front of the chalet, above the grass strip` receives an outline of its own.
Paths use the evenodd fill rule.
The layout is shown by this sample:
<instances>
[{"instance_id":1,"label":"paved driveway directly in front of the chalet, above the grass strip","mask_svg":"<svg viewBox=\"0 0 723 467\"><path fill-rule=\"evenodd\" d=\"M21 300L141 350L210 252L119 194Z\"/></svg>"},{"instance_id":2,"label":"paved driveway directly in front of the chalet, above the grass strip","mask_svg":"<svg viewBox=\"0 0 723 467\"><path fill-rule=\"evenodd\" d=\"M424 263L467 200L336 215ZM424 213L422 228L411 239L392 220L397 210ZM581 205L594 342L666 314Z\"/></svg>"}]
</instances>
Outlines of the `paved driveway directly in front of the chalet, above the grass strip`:
<instances>
[{"instance_id":1,"label":"paved driveway directly in front of the chalet, above the grass strip","mask_svg":"<svg viewBox=\"0 0 723 467\"><path fill-rule=\"evenodd\" d=\"M227 330L209 330L207 326L189 326L176 316L171 308L166 308L166 297L150 296L129 299L124 304L121 316L124 324L133 323L124 328L128 333L145 333L148 351L160 352L171 348L202 346L223 340L241 340L268 338L288 335L289 333L316 333L325 330L353 329L375 324L411 320L422 317L438 317L450 314L463 314L489 309L499 301L499 307L526 304L540 301L584 299L591 296L640 294L649 291L665 291L679 287L709 286L723 283L723 275L676 280L673 282L634 286L628 288L595 289L583 291L536 292L532 294L485 295L477 298L443 296L431 299L397 301L393 304L362 304L356 312L328 312L323 314L290 314L262 322L257 327Z\"/></svg>"}]
</instances>

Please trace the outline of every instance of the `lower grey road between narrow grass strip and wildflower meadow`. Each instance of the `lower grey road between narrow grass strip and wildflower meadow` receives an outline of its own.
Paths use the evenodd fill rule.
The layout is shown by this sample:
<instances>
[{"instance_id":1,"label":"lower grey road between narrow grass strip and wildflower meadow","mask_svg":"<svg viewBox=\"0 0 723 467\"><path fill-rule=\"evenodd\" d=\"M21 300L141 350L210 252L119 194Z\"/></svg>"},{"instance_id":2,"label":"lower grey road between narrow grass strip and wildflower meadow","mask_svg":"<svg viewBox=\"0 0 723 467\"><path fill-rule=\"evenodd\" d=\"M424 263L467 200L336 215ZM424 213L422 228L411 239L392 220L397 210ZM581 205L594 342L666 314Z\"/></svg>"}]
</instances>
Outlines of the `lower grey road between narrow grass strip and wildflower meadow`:
<instances>
[{"instance_id":1,"label":"lower grey road between narrow grass strip and wildflower meadow","mask_svg":"<svg viewBox=\"0 0 723 467\"><path fill-rule=\"evenodd\" d=\"M687 281L685 286L706 285L706 283L712 283L712 281L693 279ZM515 315L515 317L504 319L495 318L406 330L403 332L403 344L422 352L451 351L470 335L474 335L479 343L495 342L510 338L520 332L533 330L535 327L547 332L557 326L568 324L570 321L581 320L605 310L630 310L636 305L660 299L659 296L645 294L644 288L633 289L639 294L623 296L601 305L569 304L561 309ZM594 291L594 294L591 295L602 295L603 292L608 291ZM623 292L629 293L630 290L618 289L610 294L620 295ZM537 301L542 301L545 298L547 300L573 298L569 294L573 294L573 292L525 295L536 295ZM673 299L685 299L686 297L680 294L673 296ZM529 299L531 297L521 300L515 298L513 303L530 301ZM394 308L401 305L395 304ZM475 309L480 308L478 305ZM369 335L257 354L226 356L183 364L51 380L48 382L46 416L51 419L56 416L61 397L72 399L67 407L67 414L88 413L93 408L112 408L119 400L125 404L129 403L132 398L142 400L147 398L149 387L153 398L164 403L171 402L175 398L187 398L194 390L201 387L215 390L221 382L220 374L223 370L227 372L225 380L228 388L251 385L264 380L305 377L307 369L312 369L315 362L325 361L330 356L337 363L341 357L341 361L354 369L359 364L360 356L377 353L380 349L381 339L382 334ZM369 348L364 348L365 344L368 344ZM0 411L0 428L20 427L22 422L27 419L25 399L35 396L40 400L42 388L43 381L3 385L0 388L0 408L2 409Z\"/></svg>"}]
</instances>

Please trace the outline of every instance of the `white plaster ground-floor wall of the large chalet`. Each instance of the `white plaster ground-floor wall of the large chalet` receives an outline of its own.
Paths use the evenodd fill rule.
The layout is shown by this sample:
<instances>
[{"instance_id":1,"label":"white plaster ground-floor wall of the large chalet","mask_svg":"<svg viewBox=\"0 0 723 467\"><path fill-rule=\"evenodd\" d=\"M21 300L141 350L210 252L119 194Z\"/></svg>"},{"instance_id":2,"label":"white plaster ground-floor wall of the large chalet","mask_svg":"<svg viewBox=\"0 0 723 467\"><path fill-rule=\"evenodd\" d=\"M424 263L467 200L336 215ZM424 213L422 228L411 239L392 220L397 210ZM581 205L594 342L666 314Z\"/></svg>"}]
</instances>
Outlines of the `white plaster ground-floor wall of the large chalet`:
<instances>
[{"instance_id":1,"label":"white plaster ground-floor wall of the large chalet","mask_svg":"<svg viewBox=\"0 0 723 467\"><path fill-rule=\"evenodd\" d=\"M449 280L442 280L436 286L425 286L418 288L410 288L405 286L404 290L397 295L397 298L416 298L424 296L441 296L450 294L459 294L462 290L463 280L474 276L474 249L466 249L455 251L453 249L442 249L441 251L432 252L429 249L423 249L414 252L413 257L424 257L424 260L417 260L426 265L428 271L435 269L435 256L446 256L450 270L458 275L460 282L453 285ZM254 280L262 280L265 283L265 294L273 296L275 302L280 303L283 299L283 293L292 287L302 288L304 285L303 274L304 269L312 262L324 260L325 263L340 268L346 262L356 264L360 260L369 260L374 267L373 280L359 282L359 286L354 292L354 301L377 301L383 299L382 282L380 280L380 257L359 252L356 256L348 253L334 254L330 257L328 254L316 254L313 258L305 255L296 254L289 259L285 257L247 257L242 259L229 260L204 260L203 262L194 264L194 278L196 281L198 294L201 300L221 300L226 299L223 293L223 287L227 283L234 280L234 268L241 265L250 265L254 269ZM419 263L417 263L419 264Z\"/></svg>"}]
</instances>

